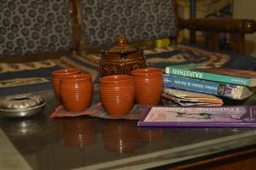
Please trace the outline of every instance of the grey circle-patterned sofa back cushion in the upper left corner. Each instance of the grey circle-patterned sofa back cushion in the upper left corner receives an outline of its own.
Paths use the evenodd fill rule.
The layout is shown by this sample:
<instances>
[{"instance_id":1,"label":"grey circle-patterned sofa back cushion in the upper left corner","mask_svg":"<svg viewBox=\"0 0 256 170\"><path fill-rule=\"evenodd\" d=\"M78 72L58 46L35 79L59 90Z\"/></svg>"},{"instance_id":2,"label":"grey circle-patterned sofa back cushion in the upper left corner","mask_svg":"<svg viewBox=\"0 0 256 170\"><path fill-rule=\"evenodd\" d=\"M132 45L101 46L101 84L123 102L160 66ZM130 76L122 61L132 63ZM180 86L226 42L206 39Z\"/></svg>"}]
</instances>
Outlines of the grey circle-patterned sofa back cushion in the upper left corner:
<instances>
[{"instance_id":1,"label":"grey circle-patterned sofa back cushion in the upper left corner","mask_svg":"<svg viewBox=\"0 0 256 170\"><path fill-rule=\"evenodd\" d=\"M71 48L69 19L68 0L1 0L0 56Z\"/></svg>"}]
</instances>

